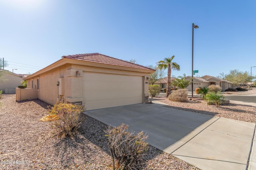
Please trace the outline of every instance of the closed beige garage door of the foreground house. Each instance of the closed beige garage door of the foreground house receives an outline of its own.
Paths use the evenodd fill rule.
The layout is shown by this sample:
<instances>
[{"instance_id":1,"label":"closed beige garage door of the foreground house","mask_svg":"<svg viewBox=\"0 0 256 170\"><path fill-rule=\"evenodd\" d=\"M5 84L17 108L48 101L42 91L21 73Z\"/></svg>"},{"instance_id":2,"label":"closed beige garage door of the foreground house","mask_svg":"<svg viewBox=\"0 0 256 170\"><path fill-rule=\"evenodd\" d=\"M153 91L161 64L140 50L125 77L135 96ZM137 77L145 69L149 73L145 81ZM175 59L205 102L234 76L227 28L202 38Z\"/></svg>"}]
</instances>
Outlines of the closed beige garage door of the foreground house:
<instances>
[{"instance_id":1,"label":"closed beige garage door of the foreground house","mask_svg":"<svg viewBox=\"0 0 256 170\"><path fill-rule=\"evenodd\" d=\"M83 72L86 110L142 103L142 76Z\"/></svg>"}]
</instances>

